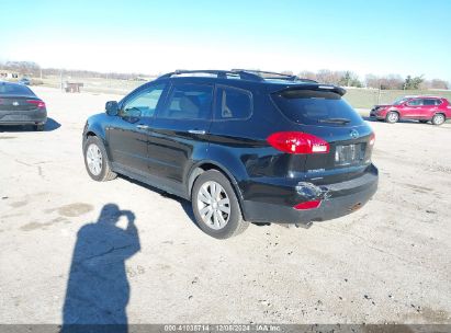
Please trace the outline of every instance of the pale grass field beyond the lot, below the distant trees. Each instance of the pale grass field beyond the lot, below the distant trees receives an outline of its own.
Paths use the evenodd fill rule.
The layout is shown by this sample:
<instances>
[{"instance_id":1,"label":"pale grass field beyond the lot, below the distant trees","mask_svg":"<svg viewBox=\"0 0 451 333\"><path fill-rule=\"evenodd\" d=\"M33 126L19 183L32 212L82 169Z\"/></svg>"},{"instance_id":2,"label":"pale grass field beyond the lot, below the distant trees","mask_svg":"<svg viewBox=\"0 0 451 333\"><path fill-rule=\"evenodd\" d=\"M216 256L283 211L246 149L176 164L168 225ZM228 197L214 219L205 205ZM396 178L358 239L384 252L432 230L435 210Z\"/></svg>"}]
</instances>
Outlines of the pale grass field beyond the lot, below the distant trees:
<instances>
[{"instance_id":1,"label":"pale grass field beyond the lot, below the distant trees","mask_svg":"<svg viewBox=\"0 0 451 333\"><path fill-rule=\"evenodd\" d=\"M145 81L128 80L106 80L97 78L64 78L64 81L82 82L82 91L114 93L125 95ZM42 80L44 85L59 88L59 77L48 77ZM357 108L371 108L374 104L392 103L396 99L405 95L440 95L451 100L451 91L443 90L382 90L375 89L348 89L345 99Z\"/></svg>"}]
</instances>

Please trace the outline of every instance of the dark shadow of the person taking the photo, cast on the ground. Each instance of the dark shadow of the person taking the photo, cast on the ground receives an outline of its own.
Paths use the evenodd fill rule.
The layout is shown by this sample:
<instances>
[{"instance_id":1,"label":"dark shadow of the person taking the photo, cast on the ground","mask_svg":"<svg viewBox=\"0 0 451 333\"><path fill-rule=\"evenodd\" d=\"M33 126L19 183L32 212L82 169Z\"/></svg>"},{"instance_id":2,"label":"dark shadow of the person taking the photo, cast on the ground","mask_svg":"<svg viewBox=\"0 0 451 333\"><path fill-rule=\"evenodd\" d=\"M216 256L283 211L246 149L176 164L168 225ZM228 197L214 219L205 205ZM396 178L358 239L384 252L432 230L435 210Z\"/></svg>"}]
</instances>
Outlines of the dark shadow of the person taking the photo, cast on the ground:
<instances>
[{"instance_id":1,"label":"dark shadow of the person taking the photo, cast on the ground","mask_svg":"<svg viewBox=\"0 0 451 333\"><path fill-rule=\"evenodd\" d=\"M125 229L117 226L121 216L128 220ZM134 220L132 211L108 204L97 222L78 231L61 332L127 332L125 260L140 250Z\"/></svg>"}]
</instances>

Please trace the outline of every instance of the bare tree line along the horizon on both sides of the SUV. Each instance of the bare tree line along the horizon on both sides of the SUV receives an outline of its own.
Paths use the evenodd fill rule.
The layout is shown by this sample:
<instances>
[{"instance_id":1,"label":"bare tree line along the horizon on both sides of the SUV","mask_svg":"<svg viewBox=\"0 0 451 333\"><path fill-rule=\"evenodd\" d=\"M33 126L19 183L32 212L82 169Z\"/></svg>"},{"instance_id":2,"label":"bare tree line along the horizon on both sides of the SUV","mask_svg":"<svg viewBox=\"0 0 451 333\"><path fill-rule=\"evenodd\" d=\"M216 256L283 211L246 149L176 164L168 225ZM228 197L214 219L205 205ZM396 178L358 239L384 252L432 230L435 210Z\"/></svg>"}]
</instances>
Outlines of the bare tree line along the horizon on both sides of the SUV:
<instances>
[{"instance_id":1,"label":"bare tree line along the horizon on both sides of the SUV","mask_svg":"<svg viewBox=\"0 0 451 333\"><path fill-rule=\"evenodd\" d=\"M116 80L138 80L146 77L143 73L117 73L117 72L98 72L91 70L65 70L59 68L41 68L33 61L7 61L0 62L0 69L10 70L21 73L22 76L41 77L41 76L71 76L77 78L102 78ZM284 73L293 74L292 71ZM450 89L449 82L441 79L426 80L422 76L406 78L399 74L374 76L367 74L364 80L352 71L320 69L316 72L304 70L297 73L300 78L311 79L318 82L338 84L343 87L374 88L382 90L418 90L418 89Z\"/></svg>"}]
</instances>

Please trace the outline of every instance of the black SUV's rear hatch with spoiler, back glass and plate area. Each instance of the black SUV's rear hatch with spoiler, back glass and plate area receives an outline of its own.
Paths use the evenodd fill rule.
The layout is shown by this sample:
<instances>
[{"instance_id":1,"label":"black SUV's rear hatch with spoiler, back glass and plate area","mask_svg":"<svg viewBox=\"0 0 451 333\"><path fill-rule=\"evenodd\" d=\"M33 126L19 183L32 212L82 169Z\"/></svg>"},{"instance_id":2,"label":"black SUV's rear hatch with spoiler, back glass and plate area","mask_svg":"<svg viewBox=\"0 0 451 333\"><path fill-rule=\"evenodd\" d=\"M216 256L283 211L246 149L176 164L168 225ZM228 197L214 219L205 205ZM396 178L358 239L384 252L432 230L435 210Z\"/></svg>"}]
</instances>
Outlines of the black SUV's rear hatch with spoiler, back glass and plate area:
<instances>
[{"instance_id":1,"label":"black SUV's rear hatch with spoiler, back glass and plate area","mask_svg":"<svg viewBox=\"0 0 451 333\"><path fill-rule=\"evenodd\" d=\"M334 85L302 84L271 94L293 129L328 143L327 151L306 154L303 168L297 164L291 174L298 173L315 184L329 184L358 177L371 164L374 135L341 97L345 92Z\"/></svg>"}]
</instances>

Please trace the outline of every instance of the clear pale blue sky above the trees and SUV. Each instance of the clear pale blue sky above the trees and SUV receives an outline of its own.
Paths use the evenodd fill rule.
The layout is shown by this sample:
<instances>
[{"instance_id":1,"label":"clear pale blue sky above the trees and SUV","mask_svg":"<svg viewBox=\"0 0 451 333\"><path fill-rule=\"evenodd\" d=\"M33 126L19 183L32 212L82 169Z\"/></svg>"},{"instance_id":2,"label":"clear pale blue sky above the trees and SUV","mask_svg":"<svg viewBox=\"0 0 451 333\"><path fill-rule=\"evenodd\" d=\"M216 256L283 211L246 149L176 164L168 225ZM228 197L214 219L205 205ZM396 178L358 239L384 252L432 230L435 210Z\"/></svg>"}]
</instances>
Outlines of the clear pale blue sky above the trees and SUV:
<instances>
[{"instance_id":1,"label":"clear pale blue sky above the trees and SUV","mask_svg":"<svg viewBox=\"0 0 451 333\"><path fill-rule=\"evenodd\" d=\"M0 0L0 61L104 72L351 70L451 81L450 0Z\"/></svg>"}]
</instances>

